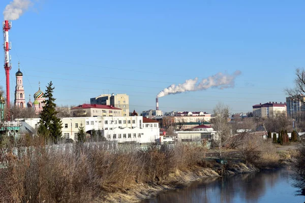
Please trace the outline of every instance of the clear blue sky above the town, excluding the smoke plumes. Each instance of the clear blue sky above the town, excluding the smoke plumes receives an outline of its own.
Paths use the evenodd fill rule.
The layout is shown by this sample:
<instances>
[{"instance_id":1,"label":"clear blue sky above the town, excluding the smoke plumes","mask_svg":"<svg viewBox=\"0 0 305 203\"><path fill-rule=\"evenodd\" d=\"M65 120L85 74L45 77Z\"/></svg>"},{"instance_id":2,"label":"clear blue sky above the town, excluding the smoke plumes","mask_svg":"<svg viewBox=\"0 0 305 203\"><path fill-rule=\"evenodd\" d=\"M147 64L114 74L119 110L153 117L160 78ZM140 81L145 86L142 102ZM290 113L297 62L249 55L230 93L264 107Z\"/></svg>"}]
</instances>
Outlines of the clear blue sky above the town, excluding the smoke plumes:
<instances>
[{"instance_id":1,"label":"clear blue sky above the town, excluding the smoke plumes","mask_svg":"<svg viewBox=\"0 0 305 203\"><path fill-rule=\"evenodd\" d=\"M11 98L20 60L25 94L33 100L38 82L44 90L52 80L59 106L127 93L141 112L171 84L236 70L234 88L168 95L160 109L211 112L223 101L233 113L284 102L305 62L304 9L303 1L36 0L10 31ZM4 70L0 80L5 87Z\"/></svg>"}]
</instances>

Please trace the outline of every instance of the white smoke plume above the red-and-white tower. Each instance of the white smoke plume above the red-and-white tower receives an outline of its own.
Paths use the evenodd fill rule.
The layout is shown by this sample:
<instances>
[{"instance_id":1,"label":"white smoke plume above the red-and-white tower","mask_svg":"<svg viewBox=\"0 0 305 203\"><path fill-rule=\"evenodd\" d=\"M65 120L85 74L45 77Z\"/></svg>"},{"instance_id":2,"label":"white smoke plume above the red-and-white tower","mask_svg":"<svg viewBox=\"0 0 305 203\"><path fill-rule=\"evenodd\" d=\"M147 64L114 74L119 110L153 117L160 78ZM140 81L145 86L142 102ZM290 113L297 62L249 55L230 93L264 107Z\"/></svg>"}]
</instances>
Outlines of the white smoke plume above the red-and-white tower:
<instances>
[{"instance_id":1,"label":"white smoke plume above the red-and-white tower","mask_svg":"<svg viewBox=\"0 0 305 203\"><path fill-rule=\"evenodd\" d=\"M13 0L3 11L5 20L17 20L31 6L30 0Z\"/></svg>"}]
</instances>

